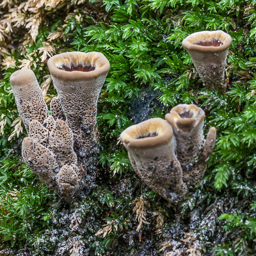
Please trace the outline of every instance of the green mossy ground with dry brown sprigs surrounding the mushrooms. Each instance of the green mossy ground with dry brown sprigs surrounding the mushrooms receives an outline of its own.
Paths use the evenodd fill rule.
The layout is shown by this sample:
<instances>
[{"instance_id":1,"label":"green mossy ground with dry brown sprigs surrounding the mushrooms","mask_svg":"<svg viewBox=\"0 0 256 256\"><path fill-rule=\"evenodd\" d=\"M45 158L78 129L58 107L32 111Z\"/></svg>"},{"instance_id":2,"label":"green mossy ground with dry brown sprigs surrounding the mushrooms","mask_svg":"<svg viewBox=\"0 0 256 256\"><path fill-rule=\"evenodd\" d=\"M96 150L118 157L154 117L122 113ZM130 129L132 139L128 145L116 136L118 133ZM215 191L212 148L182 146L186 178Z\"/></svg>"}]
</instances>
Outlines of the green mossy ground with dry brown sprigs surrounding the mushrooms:
<instances>
[{"instance_id":1,"label":"green mossy ground with dry brown sprigs surrounding the mushrooms","mask_svg":"<svg viewBox=\"0 0 256 256\"><path fill-rule=\"evenodd\" d=\"M1 255L256 254L255 0L3 0L0 17ZM225 95L204 87L182 49L206 29L232 36ZM49 103L45 64L65 51L100 51L111 63L98 106L100 176L70 206L20 159L26 132L9 83L29 67ZM118 136L180 103L204 109L217 141L204 178L173 207L133 172Z\"/></svg>"}]
</instances>

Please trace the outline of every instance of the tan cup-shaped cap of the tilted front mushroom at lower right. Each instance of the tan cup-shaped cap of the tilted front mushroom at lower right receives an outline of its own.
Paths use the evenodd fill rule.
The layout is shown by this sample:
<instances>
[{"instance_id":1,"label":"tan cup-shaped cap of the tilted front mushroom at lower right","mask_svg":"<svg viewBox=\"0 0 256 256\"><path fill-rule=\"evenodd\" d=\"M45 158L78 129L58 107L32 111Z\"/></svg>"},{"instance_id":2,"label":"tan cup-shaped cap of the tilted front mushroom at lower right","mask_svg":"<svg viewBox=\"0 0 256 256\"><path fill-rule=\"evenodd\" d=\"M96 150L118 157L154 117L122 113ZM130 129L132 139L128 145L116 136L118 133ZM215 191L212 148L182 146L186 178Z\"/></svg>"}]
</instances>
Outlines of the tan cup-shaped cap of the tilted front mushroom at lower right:
<instances>
[{"instance_id":1,"label":"tan cup-shaped cap of the tilted front mushroom at lower right","mask_svg":"<svg viewBox=\"0 0 256 256\"><path fill-rule=\"evenodd\" d=\"M154 148L172 140L172 127L162 118L152 118L131 125L120 135L120 140L129 148Z\"/></svg>"}]
</instances>

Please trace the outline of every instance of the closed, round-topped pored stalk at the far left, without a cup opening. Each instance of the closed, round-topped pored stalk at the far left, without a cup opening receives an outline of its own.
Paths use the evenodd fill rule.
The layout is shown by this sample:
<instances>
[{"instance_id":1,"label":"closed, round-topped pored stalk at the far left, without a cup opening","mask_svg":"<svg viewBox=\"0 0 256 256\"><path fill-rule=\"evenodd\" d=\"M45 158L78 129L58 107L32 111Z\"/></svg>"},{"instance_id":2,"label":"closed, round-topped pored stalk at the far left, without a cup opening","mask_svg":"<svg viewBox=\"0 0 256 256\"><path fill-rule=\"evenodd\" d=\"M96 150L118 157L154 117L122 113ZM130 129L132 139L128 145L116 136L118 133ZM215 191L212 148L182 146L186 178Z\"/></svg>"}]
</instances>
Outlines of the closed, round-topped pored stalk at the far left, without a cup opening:
<instances>
[{"instance_id":1,"label":"closed, round-topped pored stalk at the far left, without a cup opening","mask_svg":"<svg viewBox=\"0 0 256 256\"><path fill-rule=\"evenodd\" d=\"M32 120L43 123L49 113L34 72L27 68L17 70L10 76L10 83L26 130Z\"/></svg>"}]
</instances>

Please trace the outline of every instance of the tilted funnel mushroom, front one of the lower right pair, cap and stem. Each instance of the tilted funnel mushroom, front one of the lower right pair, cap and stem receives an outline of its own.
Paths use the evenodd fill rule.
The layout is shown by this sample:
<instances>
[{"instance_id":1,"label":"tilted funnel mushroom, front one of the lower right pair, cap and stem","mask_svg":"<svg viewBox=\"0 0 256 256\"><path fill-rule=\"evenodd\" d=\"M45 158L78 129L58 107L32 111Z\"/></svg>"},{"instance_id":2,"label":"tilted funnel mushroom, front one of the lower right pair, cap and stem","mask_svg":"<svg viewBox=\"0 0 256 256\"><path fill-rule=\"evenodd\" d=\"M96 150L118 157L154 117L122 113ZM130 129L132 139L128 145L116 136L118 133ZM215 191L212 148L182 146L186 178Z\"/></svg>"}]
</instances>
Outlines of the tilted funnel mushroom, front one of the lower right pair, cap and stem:
<instances>
[{"instance_id":1,"label":"tilted funnel mushroom, front one of the lower right pair, cap and stem","mask_svg":"<svg viewBox=\"0 0 256 256\"><path fill-rule=\"evenodd\" d=\"M179 202L187 191L175 156L172 127L162 118L131 125L120 135L134 171L159 195Z\"/></svg>"}]
</instances>

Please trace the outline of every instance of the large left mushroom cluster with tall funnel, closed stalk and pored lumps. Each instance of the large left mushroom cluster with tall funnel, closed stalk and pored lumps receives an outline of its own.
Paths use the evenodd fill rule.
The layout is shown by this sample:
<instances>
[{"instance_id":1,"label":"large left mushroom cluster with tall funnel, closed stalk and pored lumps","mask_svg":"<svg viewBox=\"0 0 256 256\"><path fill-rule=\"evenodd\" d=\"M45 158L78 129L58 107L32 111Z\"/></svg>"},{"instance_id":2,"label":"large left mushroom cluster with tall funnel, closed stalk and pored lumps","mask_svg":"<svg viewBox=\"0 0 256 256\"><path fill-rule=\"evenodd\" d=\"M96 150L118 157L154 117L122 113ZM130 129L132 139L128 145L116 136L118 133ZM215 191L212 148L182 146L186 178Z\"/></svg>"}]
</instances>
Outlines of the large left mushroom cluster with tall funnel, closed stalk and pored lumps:
<instances>
[{"instance_id":1,"label":"large left mushroom cluster with tall funnel, closed stalk and pored lumps","mask_svg":"<svg viewBox=\"0 0 256 256\"><path fill-rule=\"evenodd\" d=\"M110 65L100 52L58 54L47 64L58 92L51 115L32 70L10 77L29 136L22 142L22 157L42 182L72 202L90 183L86 173L95 173L97 166L97 100Z\"/></svg>"}]
</instances>

